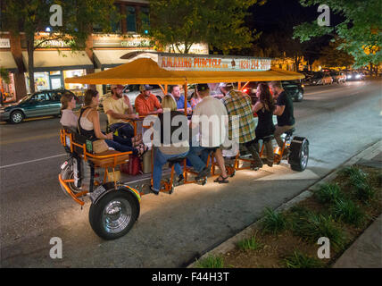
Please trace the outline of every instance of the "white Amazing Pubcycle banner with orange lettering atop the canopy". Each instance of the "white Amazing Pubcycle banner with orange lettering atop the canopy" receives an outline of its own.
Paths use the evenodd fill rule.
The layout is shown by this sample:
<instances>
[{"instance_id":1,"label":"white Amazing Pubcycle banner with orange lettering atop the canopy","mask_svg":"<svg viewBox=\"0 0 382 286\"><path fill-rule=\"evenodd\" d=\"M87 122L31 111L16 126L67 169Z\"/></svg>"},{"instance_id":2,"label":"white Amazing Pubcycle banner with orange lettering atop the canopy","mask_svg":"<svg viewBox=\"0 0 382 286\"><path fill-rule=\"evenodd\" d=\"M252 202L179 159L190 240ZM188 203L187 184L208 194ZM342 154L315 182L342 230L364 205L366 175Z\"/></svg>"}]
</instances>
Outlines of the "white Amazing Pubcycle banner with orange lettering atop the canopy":
<instances>
[{"instance_id":1,"label":"white Amazing Pubcycle banner with orange lettering atop the canopy","mask_svg":"<svg viewBox=\"0 0 382 286\"><path fill-rule=\"evenodd\" d=\"M270 59L158 55L158 65L168 71L269 71Z\"/></svg>"}]
</instances>

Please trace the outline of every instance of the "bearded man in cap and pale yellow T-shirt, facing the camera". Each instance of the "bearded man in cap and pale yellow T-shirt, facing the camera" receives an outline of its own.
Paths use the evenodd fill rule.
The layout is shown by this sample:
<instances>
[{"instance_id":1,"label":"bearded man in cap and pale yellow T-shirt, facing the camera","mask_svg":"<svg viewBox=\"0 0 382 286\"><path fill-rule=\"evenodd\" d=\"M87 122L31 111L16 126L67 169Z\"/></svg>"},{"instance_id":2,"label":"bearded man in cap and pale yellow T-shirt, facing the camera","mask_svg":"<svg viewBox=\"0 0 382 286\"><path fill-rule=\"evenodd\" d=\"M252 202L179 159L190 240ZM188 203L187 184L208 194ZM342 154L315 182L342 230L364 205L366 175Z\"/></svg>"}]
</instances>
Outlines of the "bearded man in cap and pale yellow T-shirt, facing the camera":
<instances>
[{"instance_id":1,"label":"bearded man in cap and pale yellow T-shirt, facing the camera","mask_svg":"<svg viewBox=\"0 0 382 286\"><path fill-rule=\"evenodd\" d=\"M122 85L112 85L112 96L104 100L104 114L107 115L110 130L118 130L120 137L129 139L134 137L134 128L123 120L137 119L137 114L133 112L129 97L122 98L122 90Z\"/></svg>"}]
</instances>

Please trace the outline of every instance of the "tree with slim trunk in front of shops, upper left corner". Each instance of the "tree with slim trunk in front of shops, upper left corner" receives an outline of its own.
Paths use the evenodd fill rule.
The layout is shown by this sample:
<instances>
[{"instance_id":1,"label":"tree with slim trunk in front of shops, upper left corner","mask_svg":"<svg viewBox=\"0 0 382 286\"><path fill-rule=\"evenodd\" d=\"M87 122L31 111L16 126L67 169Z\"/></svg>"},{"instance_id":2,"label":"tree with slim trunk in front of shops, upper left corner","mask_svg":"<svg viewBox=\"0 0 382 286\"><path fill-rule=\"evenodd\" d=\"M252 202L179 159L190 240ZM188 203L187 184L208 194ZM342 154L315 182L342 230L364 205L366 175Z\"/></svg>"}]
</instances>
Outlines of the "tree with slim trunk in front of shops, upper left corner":
<instances>
[{"instance_id":1,"label":"tree with slim trunk in front of shops, upper left corner","mask_svg":"<svg viewBox=\"0 0 382 286\"><path fill-rule=\"evenodd\" d=\"M94 24L104 30L110 30L110 14L115 11L113 0L4 0L2 6L2 28L13 35L25 33L29 58L29 87L35 91L34 85L34 57L33 52L51 40L61 40L71 47L72 51L83 50L86 40L92 32ZM61 9L52 9L52 5L59 5ZM57 6L56 6L57 7ZM62 24L52 27L51 20ZM50 32L39 37L36 34Z\"/></svg>"}]
</instances>

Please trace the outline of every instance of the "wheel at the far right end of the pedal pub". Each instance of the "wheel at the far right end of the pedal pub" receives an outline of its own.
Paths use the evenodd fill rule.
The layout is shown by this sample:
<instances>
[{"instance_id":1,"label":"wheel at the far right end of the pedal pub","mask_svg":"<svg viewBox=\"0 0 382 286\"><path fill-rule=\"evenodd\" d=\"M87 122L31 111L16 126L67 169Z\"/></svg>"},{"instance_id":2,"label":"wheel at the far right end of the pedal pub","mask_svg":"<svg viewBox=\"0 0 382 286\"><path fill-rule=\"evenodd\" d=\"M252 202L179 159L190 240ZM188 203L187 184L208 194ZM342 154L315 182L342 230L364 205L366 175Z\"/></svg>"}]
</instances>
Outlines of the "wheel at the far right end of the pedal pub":
<instances>
[{"instance_id":1,"label":"wheel at the far right end of the pedal pub","mask_svg":"<svg viewBox=\"0 0 382 286\"><path fill-rule=\"evenodd\" d=\"M288 163L294 171L303 172L308 165L309 141L303 137L295 137L290 144Z\"/></svg>"}]
</instances>

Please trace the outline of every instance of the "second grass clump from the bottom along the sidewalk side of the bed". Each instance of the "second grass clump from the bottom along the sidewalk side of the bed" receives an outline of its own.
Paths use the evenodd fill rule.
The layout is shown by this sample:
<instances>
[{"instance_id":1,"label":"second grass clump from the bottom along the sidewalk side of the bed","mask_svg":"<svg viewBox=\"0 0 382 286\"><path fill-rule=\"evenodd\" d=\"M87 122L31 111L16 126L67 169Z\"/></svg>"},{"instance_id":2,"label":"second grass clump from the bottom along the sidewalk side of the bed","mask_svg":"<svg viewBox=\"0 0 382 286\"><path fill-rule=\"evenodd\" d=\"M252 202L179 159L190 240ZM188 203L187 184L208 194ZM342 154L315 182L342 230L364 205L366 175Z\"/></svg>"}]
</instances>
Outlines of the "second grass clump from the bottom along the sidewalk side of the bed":
<instances>
[{"instance_id":1,"label":"second grass clump from the bottom along the sidewalk side of the bed","mask_svg":"<svg viewBox=\"0 0 382 286\"><path fill-rule=\"evenodd\" d=\"M327 237L333 248L342 249L345 246L345 233L336 227L331 215L313 212L308 212L303 216L294 215L291 225L293 233L304 240L317 243L320 237Z\"/></svg>"}]
</instances>

